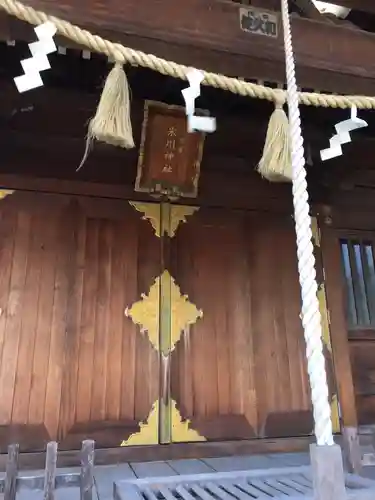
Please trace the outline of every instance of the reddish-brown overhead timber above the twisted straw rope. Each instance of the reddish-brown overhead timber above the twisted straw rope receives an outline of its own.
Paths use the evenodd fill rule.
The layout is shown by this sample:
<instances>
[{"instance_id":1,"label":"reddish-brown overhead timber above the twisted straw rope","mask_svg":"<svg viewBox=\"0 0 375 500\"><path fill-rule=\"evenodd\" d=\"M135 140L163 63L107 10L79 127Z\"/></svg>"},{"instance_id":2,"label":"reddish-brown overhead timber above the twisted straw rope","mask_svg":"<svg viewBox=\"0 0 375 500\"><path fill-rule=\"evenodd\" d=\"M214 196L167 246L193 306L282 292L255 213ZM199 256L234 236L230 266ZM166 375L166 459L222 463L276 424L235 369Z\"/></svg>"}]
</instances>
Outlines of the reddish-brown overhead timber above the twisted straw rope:
<instances>
[{"instance_id":1,"label":"reddish-brown overhead timber above the twisted straw rope","mask_svg":"<svg viewBox=\"0 0 375 500\"><path fill-rule=\"evenodd\" d=\"M352 29L294 0L300 14L292 19L298 81L321 91L375 95L375 34ZM238 3L228 0L27 0L110 40L165 59L244 78L284 82L282 34L278 38L245 33ZM278 9L279 0L251 0ZM309 6L310 8L306 7ZM301 7L302 6L302 7ZM348 24L349 23L349 24ZM33 39L25 23L0 16L0 39ZM329 42L328 42L329 41ZM69 41L64 44L71 46Z\"/></svg>"}]
</instances>

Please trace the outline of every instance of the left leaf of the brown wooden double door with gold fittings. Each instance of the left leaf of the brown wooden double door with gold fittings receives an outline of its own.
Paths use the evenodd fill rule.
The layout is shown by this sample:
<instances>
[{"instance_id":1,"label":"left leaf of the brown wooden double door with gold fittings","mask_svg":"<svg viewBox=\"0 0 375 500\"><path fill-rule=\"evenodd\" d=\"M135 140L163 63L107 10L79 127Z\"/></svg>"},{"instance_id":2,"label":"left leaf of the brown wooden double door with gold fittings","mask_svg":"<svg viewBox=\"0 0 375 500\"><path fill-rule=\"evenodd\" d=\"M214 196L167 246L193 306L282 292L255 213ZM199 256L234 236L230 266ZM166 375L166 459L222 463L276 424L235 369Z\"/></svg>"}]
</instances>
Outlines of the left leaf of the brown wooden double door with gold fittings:
<instances>
[{"instance_id":1,"label":"left leaf of the brown wooden double door with gold fittings","mask_svg":"<svg viewBox=\"0 0 375 500\"><path fill-rule=\"evenodd\" d=\"M61 447L72 449L85 438L97 447L157 444L157 420L146 438L139 432L158 400L158 353L151 329L142 330L147 310L133 312L133 319L128 311L160 274L160 240L127 201L80 199L75 220ZM153 306L158 321L159 306Z\"/></svg>"}]
</instances>

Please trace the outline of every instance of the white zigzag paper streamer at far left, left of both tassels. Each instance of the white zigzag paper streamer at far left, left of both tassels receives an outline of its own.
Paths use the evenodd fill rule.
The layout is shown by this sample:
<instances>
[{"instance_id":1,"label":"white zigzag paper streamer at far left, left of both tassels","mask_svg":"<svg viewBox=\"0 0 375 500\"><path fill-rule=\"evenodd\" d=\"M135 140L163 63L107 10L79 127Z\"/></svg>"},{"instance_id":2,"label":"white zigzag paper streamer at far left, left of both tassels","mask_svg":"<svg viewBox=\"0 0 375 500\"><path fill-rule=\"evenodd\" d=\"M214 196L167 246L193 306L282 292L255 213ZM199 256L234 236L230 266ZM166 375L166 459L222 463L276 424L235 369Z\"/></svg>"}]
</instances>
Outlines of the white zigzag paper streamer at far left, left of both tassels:
<instances>
[{"instance_id":1,"label":"white zigzag paper streamer at far left, left of both tassels","mask_svg":"<svg viewBox=\"0 0 375 500\"><path fill-rule=\"evenodd\" d=\"M32 57L21 61L24 75L14 78L14 83L18 92L26 92L43 85L40 72L50 69L47 54L57 50L53 37L56 34L56 26L51 22L46 22L34 28L38 42L29 44Z\"/></svg>"}]
</instances>

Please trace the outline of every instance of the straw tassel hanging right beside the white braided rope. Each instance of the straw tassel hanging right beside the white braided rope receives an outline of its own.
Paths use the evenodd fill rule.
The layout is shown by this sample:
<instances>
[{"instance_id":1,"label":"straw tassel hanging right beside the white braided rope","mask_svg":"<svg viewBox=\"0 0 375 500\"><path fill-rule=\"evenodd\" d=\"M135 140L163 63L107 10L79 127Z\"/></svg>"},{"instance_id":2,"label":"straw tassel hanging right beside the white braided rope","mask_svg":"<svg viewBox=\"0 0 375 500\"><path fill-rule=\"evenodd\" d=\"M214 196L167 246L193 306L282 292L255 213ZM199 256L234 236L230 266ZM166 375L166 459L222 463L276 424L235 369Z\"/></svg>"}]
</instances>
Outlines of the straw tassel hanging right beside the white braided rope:
<instances>
[{"instance_id":1,"label":"straw tassel hanging right beside the white braided rope","mask_svg":"<svg viewBox=\"0 0 375 500\"><path fill-rule=\"evenodd\" d=\"M292 181L289 121L283 108L284 103L285 98L281 96L275 101L263 155L257 167L260 175L271 182Z\"/></svg>"}]
</instances>

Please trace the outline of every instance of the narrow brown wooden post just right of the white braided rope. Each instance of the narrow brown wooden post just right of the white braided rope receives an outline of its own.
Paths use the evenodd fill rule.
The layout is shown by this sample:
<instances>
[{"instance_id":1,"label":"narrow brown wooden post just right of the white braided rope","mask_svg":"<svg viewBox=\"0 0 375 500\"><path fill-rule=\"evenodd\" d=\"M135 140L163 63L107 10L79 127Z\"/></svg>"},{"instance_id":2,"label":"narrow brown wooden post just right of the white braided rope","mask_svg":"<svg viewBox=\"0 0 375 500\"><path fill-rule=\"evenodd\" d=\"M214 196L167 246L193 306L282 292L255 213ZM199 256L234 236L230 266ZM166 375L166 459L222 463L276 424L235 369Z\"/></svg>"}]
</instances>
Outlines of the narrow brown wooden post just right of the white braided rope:
<instances>
[{"instance_id":1,"label":"narrow brown wooden post just right of the white braided rope","mask_svg":"<svg viewBox=\"0 0 375 500\"><path fill-rule=\"evenodd\" d=\"M332 354L341 418L345 427L357 427L357 411L349 357L338 235L333 228L326 226L322 219L319 222L327 305L331 327Z\"/></svg>"}]
</instances>

